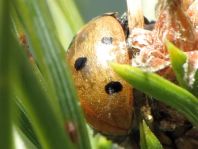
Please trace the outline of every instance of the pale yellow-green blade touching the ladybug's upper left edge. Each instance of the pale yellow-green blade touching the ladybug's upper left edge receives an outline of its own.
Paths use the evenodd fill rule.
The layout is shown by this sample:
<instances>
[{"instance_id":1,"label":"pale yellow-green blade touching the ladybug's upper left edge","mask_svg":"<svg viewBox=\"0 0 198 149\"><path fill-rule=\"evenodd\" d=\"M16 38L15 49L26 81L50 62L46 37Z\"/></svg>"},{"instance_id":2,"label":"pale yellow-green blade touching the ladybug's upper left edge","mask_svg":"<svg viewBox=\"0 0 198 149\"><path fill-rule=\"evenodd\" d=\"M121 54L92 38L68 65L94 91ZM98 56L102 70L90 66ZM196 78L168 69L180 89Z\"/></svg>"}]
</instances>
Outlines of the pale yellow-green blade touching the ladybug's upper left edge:
<instances>
[{"instance_id":1,"label":"pale yellow-green blade touching the ladybug's upper left edge","mask_svg":"<svg viewBox=\"0 0 198 149\"><path fill-rule=\"evenodd\" d=\"M72 0L48 0L48 4L60 42L64 50L67 50L73 36L83 25L83 21Z\"/></svg>"}]
</instances>

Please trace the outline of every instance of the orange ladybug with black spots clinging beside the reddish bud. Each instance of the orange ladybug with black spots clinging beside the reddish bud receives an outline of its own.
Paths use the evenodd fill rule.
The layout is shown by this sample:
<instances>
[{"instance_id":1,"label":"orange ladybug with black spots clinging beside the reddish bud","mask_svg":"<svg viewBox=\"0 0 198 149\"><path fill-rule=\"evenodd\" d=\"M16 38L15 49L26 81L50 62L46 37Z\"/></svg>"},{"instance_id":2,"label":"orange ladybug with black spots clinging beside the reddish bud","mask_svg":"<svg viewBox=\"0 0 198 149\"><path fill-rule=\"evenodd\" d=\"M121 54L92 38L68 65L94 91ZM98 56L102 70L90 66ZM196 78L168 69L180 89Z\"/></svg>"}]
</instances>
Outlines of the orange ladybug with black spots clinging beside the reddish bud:
<instances>
[{"instance_id":1,"label":"orange ladybug with black spots clinging beside the reddish bud","mask_svg":"<svg viewBox=\"0 0 198 149\"><path fill-rule=\"evenodd\" d=\"M87 122L112 136L128 134L133 119L132 87L109 66L130 63L126 33L115 14L104 14L90 21L67 50Z\"/></svg>"}]
</instances>

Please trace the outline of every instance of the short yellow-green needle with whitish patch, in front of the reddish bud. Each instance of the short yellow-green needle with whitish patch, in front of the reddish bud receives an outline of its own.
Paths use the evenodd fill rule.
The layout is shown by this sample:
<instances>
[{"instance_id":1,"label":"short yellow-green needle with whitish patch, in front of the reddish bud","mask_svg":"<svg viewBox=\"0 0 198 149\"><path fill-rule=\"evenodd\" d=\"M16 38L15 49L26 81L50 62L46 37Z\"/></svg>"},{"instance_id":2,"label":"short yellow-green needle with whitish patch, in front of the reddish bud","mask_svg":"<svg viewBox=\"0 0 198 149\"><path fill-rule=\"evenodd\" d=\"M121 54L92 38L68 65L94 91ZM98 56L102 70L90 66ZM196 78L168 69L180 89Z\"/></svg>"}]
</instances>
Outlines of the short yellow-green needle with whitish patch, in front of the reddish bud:
<instances>
[{"instance_id":1,"label":"short yellow-green needle with whitish patch, in front of the reddish bud","mask_svg":"<svg viewBox=\"0 0 198 149\"><path fill-rule=\"evenodd\" d=\"M187 57L186 53L178 49L169 41L166 41L166 46L170 53L172 68L176 74L178 82L181 86L198 96L198 66L195 64L195 58L190 56ZM192 54L194 55L196 53L193 52L197 51L192 51ZM190 60L190 58L193 59ZM190 63L189 61L193 61L194 63Z\"/></svg>"}]
</instances>

